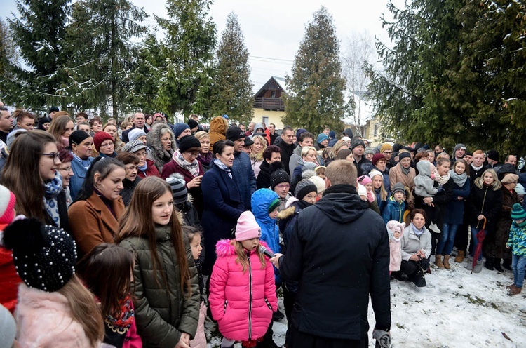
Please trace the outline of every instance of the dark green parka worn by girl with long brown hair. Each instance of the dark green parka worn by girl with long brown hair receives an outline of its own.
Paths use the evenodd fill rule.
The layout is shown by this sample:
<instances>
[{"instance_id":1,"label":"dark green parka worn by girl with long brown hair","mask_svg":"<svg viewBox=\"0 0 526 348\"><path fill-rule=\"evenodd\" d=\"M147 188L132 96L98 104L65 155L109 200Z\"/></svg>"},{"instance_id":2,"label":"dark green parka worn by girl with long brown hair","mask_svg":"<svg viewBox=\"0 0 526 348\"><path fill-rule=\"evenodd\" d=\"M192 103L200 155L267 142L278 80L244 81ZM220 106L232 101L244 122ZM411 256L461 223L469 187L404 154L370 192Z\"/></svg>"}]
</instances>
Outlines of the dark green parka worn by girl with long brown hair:
<instances>
[{"instance_id":1,"label":"dark green parka worn by girl with long brown hair","mask_svg":"<svg viewBox=\"0 0 526 348\"><path fill-rule=\"evenodd\" d=\"M156 249L161 260L161 266L157 269L165 272L169 292L159 272L155 273L157 280L154 279L146 236L124 239L120 245L135 253L135 322L143 347L173 348L179 342L181 333L189 333L192 338L196 334L200 305L198 274L190 245L183 238L191 285L191 295L185 297L180 290L180 268L170 241L170 225L156 226L155 232Z\"/></svg>"}]
</instances>

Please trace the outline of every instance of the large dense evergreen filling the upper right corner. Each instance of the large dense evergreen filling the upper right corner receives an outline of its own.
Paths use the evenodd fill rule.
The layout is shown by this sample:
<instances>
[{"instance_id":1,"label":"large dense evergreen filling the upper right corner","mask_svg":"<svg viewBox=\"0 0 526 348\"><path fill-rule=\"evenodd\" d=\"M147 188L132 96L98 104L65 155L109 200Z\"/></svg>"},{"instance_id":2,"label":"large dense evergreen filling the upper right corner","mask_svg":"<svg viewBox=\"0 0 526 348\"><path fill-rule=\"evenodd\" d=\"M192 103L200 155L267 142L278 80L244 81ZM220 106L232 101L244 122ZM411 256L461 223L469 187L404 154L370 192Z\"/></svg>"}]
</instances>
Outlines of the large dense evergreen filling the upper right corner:
<instances>
[{"instance_id":1,"label":"large dense evergreen filling the upper right corner","mask_svg":"<svg viewBox=\"0 0 526 348\"><path fill-rule=\"evenodd\" d=\"M385 70L369 69L382 126L400 140L524 151L518 137L526 126L525 5L388 6L396 20L384 20L384 27L395 44L377 42Z\"/></svg>"}]
</instances>

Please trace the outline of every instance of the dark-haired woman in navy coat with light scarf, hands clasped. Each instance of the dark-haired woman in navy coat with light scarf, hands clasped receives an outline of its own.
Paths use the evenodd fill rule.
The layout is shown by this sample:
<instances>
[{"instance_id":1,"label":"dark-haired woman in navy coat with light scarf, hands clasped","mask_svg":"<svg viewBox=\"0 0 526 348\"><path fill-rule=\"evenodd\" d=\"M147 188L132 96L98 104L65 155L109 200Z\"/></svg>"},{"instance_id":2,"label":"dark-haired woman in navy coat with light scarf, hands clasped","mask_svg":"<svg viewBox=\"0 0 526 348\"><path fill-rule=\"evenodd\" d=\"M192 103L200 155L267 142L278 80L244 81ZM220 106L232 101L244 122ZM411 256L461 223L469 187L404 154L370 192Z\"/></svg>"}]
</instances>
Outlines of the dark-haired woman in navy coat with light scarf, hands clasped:
<instances>
[{"instance_id":1,"label":"dark-haired woman in navy coat with light scarf, hands clasped","mask_svg":"<svg viewBox=\"0 0 526 348\"><path fill-rule=\"evenodd\" d=\"M215 263L215 243L220 239L231 239L231 232L243 213L241 193L232 175L234 164L234 142L220 140L213 147L214 160L203 176L204 210L201 219L205 239L205 263L203 274L210 275Z\"/></svg>"}]
</instances>

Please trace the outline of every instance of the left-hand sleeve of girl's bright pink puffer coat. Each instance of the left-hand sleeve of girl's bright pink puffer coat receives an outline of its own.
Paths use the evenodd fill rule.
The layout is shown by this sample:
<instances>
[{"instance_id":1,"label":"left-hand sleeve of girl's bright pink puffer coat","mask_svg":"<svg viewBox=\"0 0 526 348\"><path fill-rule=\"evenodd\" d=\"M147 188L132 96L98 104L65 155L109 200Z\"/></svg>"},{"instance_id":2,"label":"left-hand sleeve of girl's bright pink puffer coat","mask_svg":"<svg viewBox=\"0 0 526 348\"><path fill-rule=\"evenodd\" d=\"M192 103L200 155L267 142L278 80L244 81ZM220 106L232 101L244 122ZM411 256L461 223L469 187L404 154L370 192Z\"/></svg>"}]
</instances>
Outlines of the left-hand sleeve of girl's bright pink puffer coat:
<instances>
[{"instance_id":1,"label":"left-hand sleeve of girl's bright pink puffer coat","mask_svg":"<svg viewBox=\"0 0 526 348\"><path fill-rule=\"evenodd\" d=\"M228 276L228 257L217 257L210 276L210 295L208 296L210 312L215 321L220 321L224 315L224 302L227 299L224 290L227 287Z\"/></svg>"}]
</instances>

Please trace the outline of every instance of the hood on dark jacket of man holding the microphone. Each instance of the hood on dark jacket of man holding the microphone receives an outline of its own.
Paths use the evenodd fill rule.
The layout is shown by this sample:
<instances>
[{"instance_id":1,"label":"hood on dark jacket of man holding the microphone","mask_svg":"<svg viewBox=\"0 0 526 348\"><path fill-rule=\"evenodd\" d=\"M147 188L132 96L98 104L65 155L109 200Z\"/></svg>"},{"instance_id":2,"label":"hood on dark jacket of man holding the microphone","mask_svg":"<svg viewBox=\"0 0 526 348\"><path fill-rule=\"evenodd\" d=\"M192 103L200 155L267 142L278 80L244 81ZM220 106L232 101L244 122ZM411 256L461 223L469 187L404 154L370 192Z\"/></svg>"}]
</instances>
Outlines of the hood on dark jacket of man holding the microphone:
<instances>
[{"instance_id":1,"label":"hood on dark jacket of man holding the microphone","mask_svg":"<svg viewBox=\"0 0 526 348\"><path fill-rule=\"evenodd\" d=\"M314 207L338 223L357 220L369 209L369 205L360 199L358 192L351 185L329 187Z\"/></svg>"}]
</instances>

